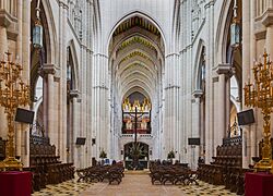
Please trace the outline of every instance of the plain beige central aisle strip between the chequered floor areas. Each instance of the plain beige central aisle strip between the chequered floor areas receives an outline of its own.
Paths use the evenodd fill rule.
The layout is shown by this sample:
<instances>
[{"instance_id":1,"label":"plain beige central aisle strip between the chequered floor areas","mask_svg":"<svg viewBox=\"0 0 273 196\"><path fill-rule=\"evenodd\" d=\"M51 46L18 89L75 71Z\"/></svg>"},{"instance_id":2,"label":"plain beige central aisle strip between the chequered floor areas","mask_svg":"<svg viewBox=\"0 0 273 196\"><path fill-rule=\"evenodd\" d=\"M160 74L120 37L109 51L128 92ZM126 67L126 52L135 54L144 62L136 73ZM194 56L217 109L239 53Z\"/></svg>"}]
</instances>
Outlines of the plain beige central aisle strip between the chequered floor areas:
<instances>
[{"instance_id":1,"label":"plain beige central aisle strip between the chequered floor areas","mask_svg":"<svg viewBox=\"0 0 273 196\"><path fill-rule=\"evenodd\" d=\"M147 174L127 174L122 182L117 185L108 183L95 183L84 191L81 196L102 195L102 196L183 196L186 194L174 185L152 185Z\"/></svg>"}]
</instances>

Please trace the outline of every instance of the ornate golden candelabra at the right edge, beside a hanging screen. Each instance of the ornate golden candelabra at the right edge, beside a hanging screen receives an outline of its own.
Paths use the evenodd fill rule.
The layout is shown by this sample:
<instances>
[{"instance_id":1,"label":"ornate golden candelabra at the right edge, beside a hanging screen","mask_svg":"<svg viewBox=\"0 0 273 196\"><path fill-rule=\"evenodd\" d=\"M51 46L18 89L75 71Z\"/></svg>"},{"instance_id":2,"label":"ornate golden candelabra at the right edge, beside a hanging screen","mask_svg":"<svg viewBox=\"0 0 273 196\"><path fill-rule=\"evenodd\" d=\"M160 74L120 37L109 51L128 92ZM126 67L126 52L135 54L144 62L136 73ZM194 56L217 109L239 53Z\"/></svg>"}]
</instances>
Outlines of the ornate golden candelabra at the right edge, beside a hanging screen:
<instances>
[{"instance_id":1,"label":"ornate golden candelabra at the right edge, beside a hanging screen","mask_svg":"<svg viewBox=\"0 0 273 196\"><path fill-rule=\"evenodd\" d=\"M273 65L266 52L263 62L256 63L253 69L254 83L245 84L245 105L260 108L263 114L262 160L256 166L256 171L273 173L270 114L273 107Z\"/></svg>"}]
</instances>

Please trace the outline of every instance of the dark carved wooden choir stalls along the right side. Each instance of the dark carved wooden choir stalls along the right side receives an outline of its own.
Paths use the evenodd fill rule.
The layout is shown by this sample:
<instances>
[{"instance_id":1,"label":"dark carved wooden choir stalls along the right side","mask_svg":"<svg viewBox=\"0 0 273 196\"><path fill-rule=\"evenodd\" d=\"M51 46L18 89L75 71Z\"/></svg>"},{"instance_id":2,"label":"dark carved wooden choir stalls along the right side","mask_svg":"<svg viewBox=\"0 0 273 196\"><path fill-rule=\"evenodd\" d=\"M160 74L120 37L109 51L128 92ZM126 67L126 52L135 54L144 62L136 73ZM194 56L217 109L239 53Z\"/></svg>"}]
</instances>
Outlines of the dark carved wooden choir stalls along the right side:
<instances>
[{"instance_id":1,"label":"dark carved wooden choir stalls along the right side","mask_svg":"<svg viewBox=\"0 0 273 196\"><path fill-rule=\"evenodd\" d=\"M223 139L223 145L217 146L213 160L211 164L199 164L198 179L212 184L224 184L225 188L244 194L246 170L241 168L241 137Z\"/></svg>"}]
</instances>

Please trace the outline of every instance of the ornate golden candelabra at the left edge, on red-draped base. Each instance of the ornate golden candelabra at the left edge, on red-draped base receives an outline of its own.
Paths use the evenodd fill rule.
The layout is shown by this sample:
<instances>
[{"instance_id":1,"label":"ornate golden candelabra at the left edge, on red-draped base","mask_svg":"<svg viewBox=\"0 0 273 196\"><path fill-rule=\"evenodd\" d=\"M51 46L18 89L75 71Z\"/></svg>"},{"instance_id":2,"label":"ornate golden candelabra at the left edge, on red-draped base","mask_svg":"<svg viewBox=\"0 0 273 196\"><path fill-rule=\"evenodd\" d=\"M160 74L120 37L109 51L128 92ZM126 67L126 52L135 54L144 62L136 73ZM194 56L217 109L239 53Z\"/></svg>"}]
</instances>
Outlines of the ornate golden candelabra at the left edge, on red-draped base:
<instances>
[{"instance_id":1,"label":"ornate golden candelabra at the left edge, on red-draped base","mask_svg":"<svg viewBox=\"0 0 273 196\"><path fill-rule=\"evenodd\" d=\"M14 115L20 105L29 101L29 87L22 82L22 65L12 62L11 53L5 52L8 61L0 62L0 105L4 108L8 120L8 143L5 147L5 159L0 162L3 170L22 170L23 164L15 159L14 142Z\"/></svg>"}]
</instances>

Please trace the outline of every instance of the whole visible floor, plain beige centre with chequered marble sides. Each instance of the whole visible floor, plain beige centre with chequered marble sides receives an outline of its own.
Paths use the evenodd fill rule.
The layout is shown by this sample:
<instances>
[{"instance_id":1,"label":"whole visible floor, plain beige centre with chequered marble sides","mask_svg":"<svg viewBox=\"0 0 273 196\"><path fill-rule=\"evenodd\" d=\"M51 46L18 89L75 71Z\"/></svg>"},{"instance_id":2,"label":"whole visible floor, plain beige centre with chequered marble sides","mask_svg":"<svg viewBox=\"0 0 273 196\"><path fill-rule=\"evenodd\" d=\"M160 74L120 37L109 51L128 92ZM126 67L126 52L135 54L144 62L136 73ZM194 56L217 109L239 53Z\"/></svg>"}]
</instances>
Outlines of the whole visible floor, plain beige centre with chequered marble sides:
<instances>
[{"instance_id":1,"label":"whole visible floor, plain beige centre with chequered marble sides","mask_svg":"<svg viewBox=\"0 0 273 196\"><path fill-rule=\"evenodd\" d=\"M33 196L233 196L234 193L224 189L224 186L215 186L204 182L199 182L199 185L152 185L147 174L126 173L122 182L109 185L103 183L76 183L75 180L63 182L58 185L47 185L47 188L40 192L35 192Z\"/></svg>"}]
</instances>

